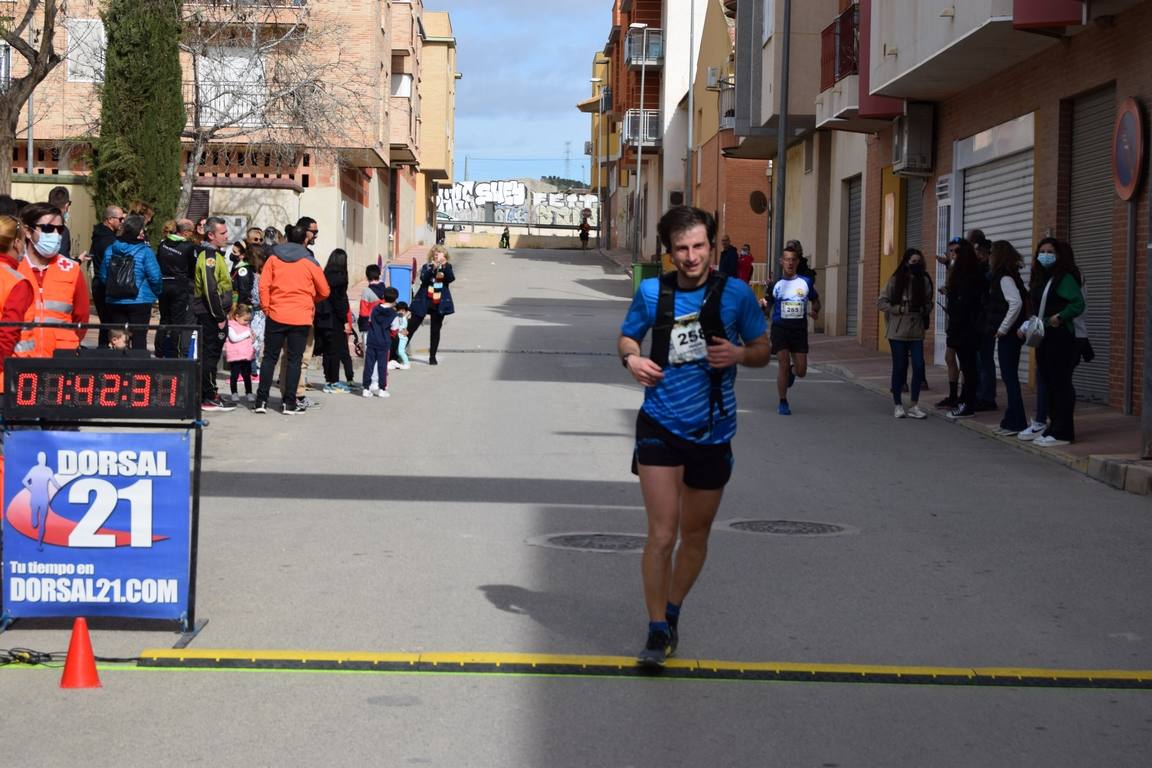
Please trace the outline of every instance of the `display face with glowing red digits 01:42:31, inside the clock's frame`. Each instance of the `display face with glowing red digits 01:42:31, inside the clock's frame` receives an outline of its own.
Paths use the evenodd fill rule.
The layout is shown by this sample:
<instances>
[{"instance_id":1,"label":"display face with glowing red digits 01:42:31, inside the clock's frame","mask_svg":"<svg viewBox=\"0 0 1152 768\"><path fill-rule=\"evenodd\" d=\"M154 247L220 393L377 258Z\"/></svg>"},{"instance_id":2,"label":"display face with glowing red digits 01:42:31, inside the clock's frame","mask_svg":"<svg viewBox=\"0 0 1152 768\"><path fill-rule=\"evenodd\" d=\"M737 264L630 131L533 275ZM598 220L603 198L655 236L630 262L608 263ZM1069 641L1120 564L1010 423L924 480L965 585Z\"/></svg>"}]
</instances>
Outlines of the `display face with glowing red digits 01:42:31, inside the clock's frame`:
<instances>
[{"instance_id":1,"label":"display face with glowing red digits 01:42:31, inside the clock's frame","mask_svg":"<svg viewBox=\"0 0 1152 768\"><path fill-rule=\"evenodd\" d=\"M170 373L21 373L17 405L175 408L180 378Z\"/></svg>"}]
</instances>

